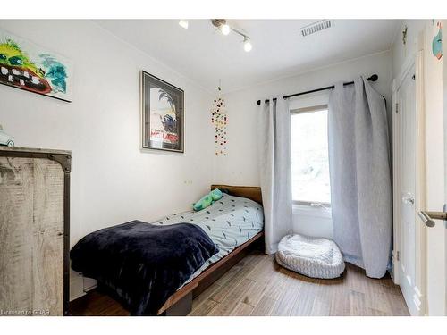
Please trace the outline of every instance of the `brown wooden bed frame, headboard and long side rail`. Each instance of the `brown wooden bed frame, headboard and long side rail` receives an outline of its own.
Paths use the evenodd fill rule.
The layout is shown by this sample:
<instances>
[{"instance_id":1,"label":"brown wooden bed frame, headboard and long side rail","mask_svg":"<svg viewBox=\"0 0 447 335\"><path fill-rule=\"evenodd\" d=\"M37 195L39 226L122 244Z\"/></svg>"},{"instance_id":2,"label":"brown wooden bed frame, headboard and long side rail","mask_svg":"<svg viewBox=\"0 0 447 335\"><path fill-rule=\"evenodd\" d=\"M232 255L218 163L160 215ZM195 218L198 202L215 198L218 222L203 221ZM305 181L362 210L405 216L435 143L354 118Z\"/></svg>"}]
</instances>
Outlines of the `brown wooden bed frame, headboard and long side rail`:
<instances>
[{"instance_id":1,"label":"brown wooden bed frame, headboard and long side rail","mask_svg":"<svg viewBox=\"0 0 447 335\"><path fill-rule=\"evenodd\" d=\"M249 186L211 185L211 189L219 188L235 197L247 197L262 205L261 188ZM264 231L257 233L244 244L236 247L230 254L212 264L204 272L186 284L169 297L164 306L158 310L158 315L187 315L192 307L192 299L202 293L208 286L218 280L223 273L238 263L253 247L264 244Z\"/></svg>"}]
</instances>

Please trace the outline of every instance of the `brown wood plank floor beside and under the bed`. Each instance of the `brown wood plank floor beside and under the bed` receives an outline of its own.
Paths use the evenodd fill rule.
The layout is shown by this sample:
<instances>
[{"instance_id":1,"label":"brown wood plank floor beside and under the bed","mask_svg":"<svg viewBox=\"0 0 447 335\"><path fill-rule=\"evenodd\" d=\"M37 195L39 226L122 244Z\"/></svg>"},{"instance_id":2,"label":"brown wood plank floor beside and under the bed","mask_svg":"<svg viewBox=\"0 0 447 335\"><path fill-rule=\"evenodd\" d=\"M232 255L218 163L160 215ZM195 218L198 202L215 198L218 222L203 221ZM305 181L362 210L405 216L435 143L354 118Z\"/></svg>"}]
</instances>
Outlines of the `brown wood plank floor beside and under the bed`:
<instances>
[{"instance_id":1,"label":"brown wood plank floor beside and under the bed","mask_svg":"<svg viewBox=\"0 0 447 335\"><path fill-rule=\"evenodd\" d=\"M96 291L75 301L72 315L129 315ZM343 276L316 280L283 269L274 256L252 252L193 301L190 315L409 315L389 276L367 278L347 264Z\"/></svg>"}]
</instances>

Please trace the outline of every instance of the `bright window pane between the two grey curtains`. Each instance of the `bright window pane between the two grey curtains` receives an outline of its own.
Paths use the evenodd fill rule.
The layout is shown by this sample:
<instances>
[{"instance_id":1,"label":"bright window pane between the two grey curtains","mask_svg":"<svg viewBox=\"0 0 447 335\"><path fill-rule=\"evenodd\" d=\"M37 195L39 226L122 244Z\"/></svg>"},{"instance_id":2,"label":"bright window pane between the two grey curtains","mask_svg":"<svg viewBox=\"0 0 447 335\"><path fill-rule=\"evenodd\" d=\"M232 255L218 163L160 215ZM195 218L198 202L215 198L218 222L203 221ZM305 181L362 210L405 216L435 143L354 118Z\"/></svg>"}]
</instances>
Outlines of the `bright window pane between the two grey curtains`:
<instances>
[{"instance_id":1,"label":"bright window pane between the two grey curtains","mask_svg":"<svg viewBox=\"0 0 447 335\"><path fill-rule=\"evenodd\" d=\"M299 205L330 205L327 105L291 111L291 189Z\"/></svg>"}]
</instances>

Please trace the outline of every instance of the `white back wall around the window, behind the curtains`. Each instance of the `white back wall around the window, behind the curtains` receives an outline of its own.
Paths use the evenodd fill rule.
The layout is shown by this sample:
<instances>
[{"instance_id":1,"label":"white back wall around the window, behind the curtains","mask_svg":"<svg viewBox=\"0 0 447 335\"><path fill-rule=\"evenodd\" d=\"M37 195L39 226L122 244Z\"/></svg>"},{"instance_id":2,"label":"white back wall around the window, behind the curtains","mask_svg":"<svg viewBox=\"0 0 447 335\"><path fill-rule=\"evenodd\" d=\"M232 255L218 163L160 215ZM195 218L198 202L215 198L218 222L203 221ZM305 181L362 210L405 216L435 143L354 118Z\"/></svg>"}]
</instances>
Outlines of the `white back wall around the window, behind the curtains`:
<instances>
[{"instance_id":1,"label":"white back wall around the window, behind the curtains","mask_svg":"<svg viewBox=\"0 0 447 335\"><path fill-rule=\"evenodd\" d=\"M316 71L274 80L255 87L228 93L226 100L228 124L228 153L215 156L215 181L232 185L259 185L257 157L256 102L269 96L283 96L313 88L333 85L337 81L350 81L357 76L377 73L379 80L373 87L391 107L392 57L391 52L373 54L350 62L338 63ZM391 110L389 109L391 115ZM391 116L389 118L391 125ZM324 210L302 211L294 209L294 229L311 236L332 238L332 220Z\"/></svg>"}]
</instances>

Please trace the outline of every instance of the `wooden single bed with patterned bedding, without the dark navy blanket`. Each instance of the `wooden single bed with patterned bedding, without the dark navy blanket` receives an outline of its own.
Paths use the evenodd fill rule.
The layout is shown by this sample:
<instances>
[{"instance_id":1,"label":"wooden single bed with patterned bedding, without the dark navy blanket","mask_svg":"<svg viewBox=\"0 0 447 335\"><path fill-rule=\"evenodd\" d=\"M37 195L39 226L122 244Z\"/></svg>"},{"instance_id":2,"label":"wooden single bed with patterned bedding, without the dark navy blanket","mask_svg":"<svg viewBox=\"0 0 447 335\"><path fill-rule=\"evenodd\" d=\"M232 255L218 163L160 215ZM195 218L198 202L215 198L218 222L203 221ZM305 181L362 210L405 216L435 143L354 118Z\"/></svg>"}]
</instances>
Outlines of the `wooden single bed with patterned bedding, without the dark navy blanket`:
<instances>
[{"instance_id":1,"label":"wooden single bed with patterned bedding, without the dark navy blanket","mask_svg":"<svg viewBox=\"0 0 447 335\"><path fill-rule=\"evenodd\" d=\"M192 271L188 273L188 276L190 275L189 278L184 276L181 281L177 281L181 283L180 285L171 285L170 292L174 293L171 296L169 296L171 294L168 293L169 290L166 292L167 294L164 293L163 300L159 300L161 303L158 306L161 306L163 301L165 301L164 305L158 310L155 309L152 314L155 314L156 310L158 315L188 314L192 306L193 297L198 296L198 294L222 276L224 272L229 270L233 264L239 262L251 247L262 244L264 215L260 188L227 185L211 186L211 189L215 188L223 191L223 198L206 209L199 212L189 211L172 214L152 222L152 225L160 229L171 229L169 228L170 225L182 224L182 222L193 223L205 231L206 234L202 234L211 239L215 246L218 247L218 252L215 255L210 254L212 256L201 267L195 268L198 269L196 272L192 273L192 275L190 275ZM171 238L167 239L171 240ZM181 245L183 246L182 243ZM122 251L119 251L119 253L122 253ZM156 252L155 255L160 254ZM152 260L152 258L147 259ZM162 264L166 263L163 262ZM171 269L171 266L169 266L169 269ZM186 278L188 279L185 280ZM152 281L150 282L152 284ZM172 281L169 281L169 283L172 283ZM158 288L164 291L168 287L164 288L164 284L162 284ZM179 289L175 291L175 288ZM159 291L152 290L152 292ZM113 295L113 292L110 293Z\"/></svg>"}]
</instances>

